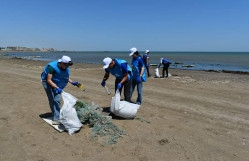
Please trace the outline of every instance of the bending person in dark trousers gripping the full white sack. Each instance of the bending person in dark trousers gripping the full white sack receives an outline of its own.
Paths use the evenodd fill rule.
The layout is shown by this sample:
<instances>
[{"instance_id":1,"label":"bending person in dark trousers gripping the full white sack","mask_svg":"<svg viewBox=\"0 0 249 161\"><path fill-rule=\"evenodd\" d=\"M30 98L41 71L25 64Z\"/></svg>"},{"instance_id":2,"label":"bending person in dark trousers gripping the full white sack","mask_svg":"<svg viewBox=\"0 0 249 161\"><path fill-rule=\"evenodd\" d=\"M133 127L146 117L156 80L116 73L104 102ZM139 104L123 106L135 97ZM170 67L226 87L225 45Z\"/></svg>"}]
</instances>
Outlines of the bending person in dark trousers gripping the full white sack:
<instances>
[{"instance_id":1,"label":"bending person in dark trousers gripping the full white sack","mask_svg":"<svg viewBox=\"0 0 249 161\"><path fill-rule=\"evenodd\" d=\"M121 59L111 59L106 57L103 59L105 69L105 75L102 80L101 85L104 87L106 80L109 78L110 73L116 77L115 80L115 91L119 89L120 94L124 86L124 99L125 101L130 102L130 89L131 89L131 67L128 65L127 61Z\"/></svg>"}]
</instances>

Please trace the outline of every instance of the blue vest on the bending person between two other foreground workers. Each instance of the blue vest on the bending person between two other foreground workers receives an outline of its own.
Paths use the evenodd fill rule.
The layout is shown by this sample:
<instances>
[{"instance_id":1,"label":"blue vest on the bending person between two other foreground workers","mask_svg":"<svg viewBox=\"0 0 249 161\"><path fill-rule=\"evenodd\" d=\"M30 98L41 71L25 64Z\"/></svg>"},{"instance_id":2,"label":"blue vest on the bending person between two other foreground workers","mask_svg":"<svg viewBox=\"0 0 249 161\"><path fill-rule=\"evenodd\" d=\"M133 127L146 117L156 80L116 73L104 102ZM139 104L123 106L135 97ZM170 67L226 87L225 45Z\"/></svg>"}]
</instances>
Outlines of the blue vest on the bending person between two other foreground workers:
<instances>
[{"instance_id":1,"label":"blue vest on the bending person between two other foreground workers","mask_svg":"<svg viewBox=\"0 0 249 161\"><path fill-rule=\"evenodd\" d=\"M127 62L125 60L121 60L121 59L115 59L115 65L112 69L109 69L110 73L115 76L118 79L123 79L124 78L124 74L122 73L122 68L121 68L121 64L122 63L126 63ZM128 70L128 79L126 81L129 81L131 79L131 67L127 64L127 70Z\"/></svg>"}]
</instances>

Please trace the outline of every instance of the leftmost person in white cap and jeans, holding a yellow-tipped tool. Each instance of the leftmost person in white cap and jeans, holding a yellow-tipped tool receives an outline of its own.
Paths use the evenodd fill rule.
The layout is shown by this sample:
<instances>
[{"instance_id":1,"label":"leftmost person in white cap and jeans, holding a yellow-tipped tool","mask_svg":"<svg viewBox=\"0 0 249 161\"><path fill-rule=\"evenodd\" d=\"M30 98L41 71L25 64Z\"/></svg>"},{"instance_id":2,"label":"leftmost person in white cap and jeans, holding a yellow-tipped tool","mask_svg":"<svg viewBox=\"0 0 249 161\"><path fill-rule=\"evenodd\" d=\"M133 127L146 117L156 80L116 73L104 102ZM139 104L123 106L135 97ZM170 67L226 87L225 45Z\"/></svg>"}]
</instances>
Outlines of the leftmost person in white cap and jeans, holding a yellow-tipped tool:
<instances>
[{"instance_id":1,"label":"leftmost person in white cap and jeans, holding a yellow-tipped tool","mask_svg":"<svg viewBox=\"0 0 249 161\"><path fill-rule=\"evenodd\" d=\"M69 78L69 66L73 65L71 58L62 56L61 59L48 63L42 74L42 85L46 91L49 106L53 114L53 125L60 124L60 102L61 92L66 87L67 83L78 85L78 82L73 82Z\"/></svg>"}]
</instances>

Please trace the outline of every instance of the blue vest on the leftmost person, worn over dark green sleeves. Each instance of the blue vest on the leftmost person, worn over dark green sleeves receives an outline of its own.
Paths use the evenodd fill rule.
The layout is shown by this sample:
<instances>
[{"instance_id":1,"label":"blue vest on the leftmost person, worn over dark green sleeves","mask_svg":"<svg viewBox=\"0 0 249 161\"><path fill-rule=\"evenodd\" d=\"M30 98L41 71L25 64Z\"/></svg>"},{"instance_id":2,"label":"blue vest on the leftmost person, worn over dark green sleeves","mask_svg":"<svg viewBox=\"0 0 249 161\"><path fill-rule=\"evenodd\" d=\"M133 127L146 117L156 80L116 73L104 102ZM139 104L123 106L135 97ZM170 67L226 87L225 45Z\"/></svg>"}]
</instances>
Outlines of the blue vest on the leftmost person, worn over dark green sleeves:
<instances>
[{"instance_id":1,"label":"blue vest on the leftmost person, worn over dark green sleeves","mask_svg":"<svg viewBox=\"0 0 249 161\"><path fill-rule=\"evenodd\" d=\"M56 71L55 74L53 74L53 77L52 77L52 81L54 82L54 84L56 86L58 86L59 88L63 89L66 87L67 83L68 83L68 80L69 80L69 67L64 71L64 70L61 70L58 66L58 61L54 61L54 62L51 62L51 63L48 63L48 65L52 66L54 68L54 70ZM46 67L44 68L44 72L42 73L41 75L41 78L43 80L46 80L47 79L47 67L48 65L46 65Z\"/></svg>"}]
</instances>

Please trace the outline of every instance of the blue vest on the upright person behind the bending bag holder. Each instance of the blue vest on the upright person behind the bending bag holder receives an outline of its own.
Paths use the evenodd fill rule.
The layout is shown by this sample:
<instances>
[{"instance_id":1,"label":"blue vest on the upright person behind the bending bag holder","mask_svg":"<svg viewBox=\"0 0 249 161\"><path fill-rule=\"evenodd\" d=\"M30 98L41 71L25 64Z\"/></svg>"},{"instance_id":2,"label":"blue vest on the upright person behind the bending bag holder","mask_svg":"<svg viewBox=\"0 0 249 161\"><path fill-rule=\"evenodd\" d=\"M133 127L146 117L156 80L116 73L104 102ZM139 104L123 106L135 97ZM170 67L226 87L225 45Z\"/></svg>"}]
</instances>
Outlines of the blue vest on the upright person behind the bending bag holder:
<instances>
[{"instance_id":1,"label":"blue vest on the upright person behind the bending bag holder","mask_svg":"<svg viewBox=\"0 0 249 161\"><path fill-rule=\"evenodd\" d=\"M136 59L132 59L132 74L133 74L133 79L137 79L138 77L140 77L140 72L141 72L141 67L139 67L139 60L142 59L140 56L138 56ZM144 82L146 82L146 70L145 70L145 66L143 64L144 67L144 72L142 75L142 80Z\"/></svg>"}]
</instances>

